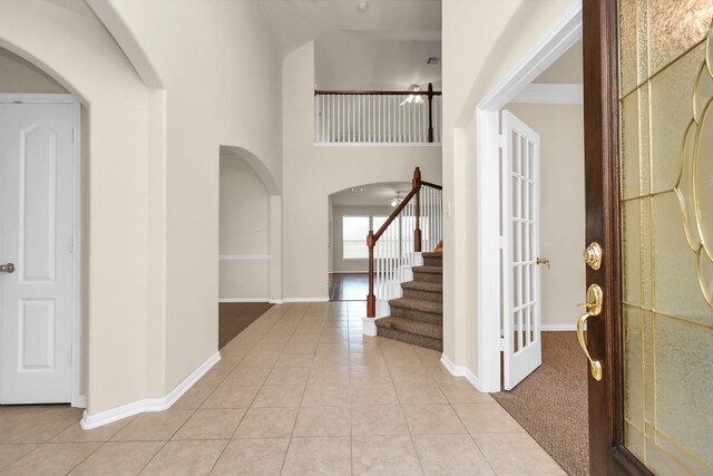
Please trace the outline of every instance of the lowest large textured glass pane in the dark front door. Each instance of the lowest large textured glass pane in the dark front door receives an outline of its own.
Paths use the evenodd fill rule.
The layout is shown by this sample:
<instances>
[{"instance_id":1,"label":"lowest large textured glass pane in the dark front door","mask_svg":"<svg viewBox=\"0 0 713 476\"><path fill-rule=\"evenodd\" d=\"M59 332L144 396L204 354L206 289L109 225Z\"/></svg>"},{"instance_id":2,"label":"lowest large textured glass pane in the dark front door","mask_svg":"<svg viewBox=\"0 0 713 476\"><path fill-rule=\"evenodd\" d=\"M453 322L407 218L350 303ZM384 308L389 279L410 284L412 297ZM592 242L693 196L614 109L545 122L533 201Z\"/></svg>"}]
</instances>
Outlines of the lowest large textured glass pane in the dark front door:
<instances>
[{"instance_id":1,"label":"lowest large textured glass pane in the dark front door","mask_svg":"<svg viewBox=\"0 0 713 476\"><path fill-rule=\"evenodd\" d=\"M713 332L656 314L656 430L713 472Z\"/></svg>"}]
</instances>

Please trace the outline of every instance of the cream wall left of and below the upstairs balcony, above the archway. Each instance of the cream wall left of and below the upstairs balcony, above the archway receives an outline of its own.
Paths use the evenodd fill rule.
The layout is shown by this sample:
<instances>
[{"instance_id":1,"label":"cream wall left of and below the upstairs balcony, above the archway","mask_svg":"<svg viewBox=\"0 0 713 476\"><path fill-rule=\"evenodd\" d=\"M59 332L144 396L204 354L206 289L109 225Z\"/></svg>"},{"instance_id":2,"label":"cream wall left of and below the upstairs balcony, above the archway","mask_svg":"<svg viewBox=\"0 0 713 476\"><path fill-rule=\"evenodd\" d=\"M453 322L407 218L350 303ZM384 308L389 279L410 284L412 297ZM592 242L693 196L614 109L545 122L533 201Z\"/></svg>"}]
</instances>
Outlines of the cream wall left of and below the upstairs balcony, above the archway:
<instances>
[{"instance_id":1,"label":"cream wall left of and below the upstairs balcony, above the archway","mask_svg":"<svg viewBox=\"0 0 713 476\"><path fill-rule=\"evenodd\" d=\"M404 182L421 167L440 183L441 149L314 146L314 43L283 59L284 298L328 299L329 201L354 184Z\"/></svg>"}]
</instances>

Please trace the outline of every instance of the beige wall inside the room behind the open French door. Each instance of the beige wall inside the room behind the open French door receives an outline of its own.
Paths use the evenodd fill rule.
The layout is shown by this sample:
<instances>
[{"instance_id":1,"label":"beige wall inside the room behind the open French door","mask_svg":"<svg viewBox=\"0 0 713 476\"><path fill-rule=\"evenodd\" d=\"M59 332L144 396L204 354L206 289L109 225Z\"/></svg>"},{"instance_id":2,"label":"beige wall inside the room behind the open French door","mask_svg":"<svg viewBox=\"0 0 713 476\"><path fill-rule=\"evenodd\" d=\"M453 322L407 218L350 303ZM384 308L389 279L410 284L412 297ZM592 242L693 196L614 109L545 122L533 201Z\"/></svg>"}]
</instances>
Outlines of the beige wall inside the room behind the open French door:
<instances>
[{"instance_id":1,"label":"beige wall inside the room behind the open French door","mask_svg":"<svg viewBox=\"0 0 713 476\"><path fill-rule=\"evenodd\" d=\"M584 108L580 105L506 106L540 138L540 266L544 326L572 328L583 302L585 266Z\"/></svg>"}]
</instances>

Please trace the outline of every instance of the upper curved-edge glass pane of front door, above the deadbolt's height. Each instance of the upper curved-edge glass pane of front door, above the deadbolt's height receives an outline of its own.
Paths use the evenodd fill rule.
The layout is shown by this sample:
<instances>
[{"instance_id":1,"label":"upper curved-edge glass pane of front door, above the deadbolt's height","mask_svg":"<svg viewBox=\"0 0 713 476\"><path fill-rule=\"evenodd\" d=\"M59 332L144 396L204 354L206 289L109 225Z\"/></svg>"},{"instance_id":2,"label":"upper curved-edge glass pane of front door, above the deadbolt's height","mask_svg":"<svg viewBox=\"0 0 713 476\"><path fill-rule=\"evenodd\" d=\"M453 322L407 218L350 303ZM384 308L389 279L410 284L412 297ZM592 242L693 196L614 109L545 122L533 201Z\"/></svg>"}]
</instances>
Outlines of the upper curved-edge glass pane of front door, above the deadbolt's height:
<instances>
[{"instance_id":1,"label":"upper curved-edge glass pane of front door, above the deadbolt's height","mask_svg":"<svg viewBox=\"0 0 713 476\"><path fill-rule=\"evenodd\" d=\"M651 80L652 192L672 190L681 171L681 139L693 119L693 88L705 57L705 45Z\"/></svg>"}]
</instances>

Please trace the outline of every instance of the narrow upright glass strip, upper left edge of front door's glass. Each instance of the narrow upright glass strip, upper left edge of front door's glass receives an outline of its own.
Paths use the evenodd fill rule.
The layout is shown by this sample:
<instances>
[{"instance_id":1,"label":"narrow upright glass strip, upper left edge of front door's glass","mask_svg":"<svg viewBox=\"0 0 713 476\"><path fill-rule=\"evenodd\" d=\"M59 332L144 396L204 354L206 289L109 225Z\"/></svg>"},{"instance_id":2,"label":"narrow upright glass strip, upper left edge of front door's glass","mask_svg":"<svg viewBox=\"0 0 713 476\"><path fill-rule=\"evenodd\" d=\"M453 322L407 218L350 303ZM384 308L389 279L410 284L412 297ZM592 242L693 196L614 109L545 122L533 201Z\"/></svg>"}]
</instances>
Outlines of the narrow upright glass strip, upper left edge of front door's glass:
<instances>
[{"instance_id":1,"label":"narrow upright glass strip, upper left edge of front door's glass","mask_svg":"<svg viewBox=\"0 0 713 476\"><path fill-rule=\"evenodd\" d=\"M621 147L622 147L622 198L638 196L638 95L636 93L622 100Z\"/></svg>"}]
</instances>

